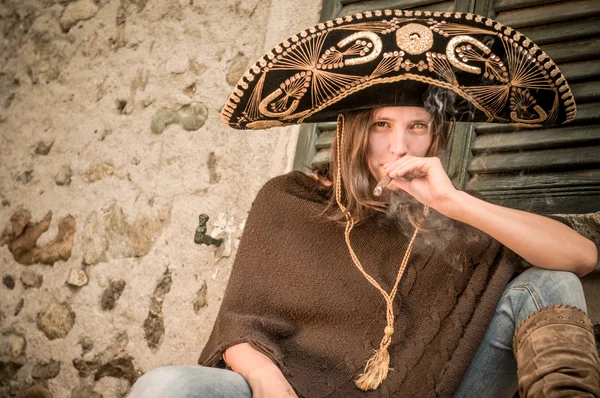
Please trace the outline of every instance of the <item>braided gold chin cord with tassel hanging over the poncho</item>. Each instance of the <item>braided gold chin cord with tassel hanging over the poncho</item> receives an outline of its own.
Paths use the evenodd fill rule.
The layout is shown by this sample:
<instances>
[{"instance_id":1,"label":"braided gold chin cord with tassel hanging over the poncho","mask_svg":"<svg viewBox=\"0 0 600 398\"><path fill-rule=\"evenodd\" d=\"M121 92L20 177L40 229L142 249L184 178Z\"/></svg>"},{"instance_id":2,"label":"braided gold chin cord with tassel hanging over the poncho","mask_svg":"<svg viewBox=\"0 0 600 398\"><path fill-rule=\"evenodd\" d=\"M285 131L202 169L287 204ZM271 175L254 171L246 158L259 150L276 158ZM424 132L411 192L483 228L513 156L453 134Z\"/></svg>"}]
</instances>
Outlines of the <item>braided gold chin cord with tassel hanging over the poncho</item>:
<instances>
[{"instance_id":1,"label":"braided gold chin cord with tassel hanging over the poncho","mask_svg":"<svg viewBox=\"0 0 600 398\"><path fill-rule=\"evenodd\" d=\"M344 238L346 241L346 246L348 247L348 251L350 252L352 262L354 263L356 268L358 268L358 270L362 273L365 279L369 281L369 283L373 285L373 287L375 287L379 291L379 293L381 293L386 303L386 326L383 330L383 338L381 339L381 343L379 344L379 349L375 350L371 358L367 360L363 373L361 373L358 379L356 379L354 382L356 386L361 390L368 391L377 389L377 387L381 385L383 380L386 379L388 371L390 370L390 354L388 352L388 347L392 342L392 335L394 334L394 298L396 297L396 293L398 292L398 285L400 283L402 275L404 274L406 265L408 264L408 259L410 258L410 253L412 251L412 247L417 237L417 233L419 232L419 229L415 229L415 232L413 233L412 238L410 239L408 247L406 248L406 252L404 253L404 257L402 258L402 263L400 264L400 268L398 269L398 275L396 276L394 287L392 288L390 293L387 293L385 290L383 290L381 285L379 285L379 283L377 283L377 281L364 270L350 242L350 232L354 228L355 222L350 212L348 212L346 207L342 204L341 149L344 135L344 122L344 115L340 114L338 116L336 130L337 178L335 183L335 200L338 206L340 207L340 210L344 213L344 217L346 218ZM425 206L425 209L423 210L424 216L427 216L428 212L429 207Z\"/></svg>"}]
</instances>

